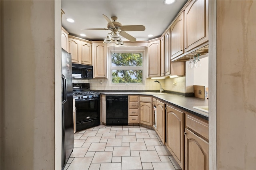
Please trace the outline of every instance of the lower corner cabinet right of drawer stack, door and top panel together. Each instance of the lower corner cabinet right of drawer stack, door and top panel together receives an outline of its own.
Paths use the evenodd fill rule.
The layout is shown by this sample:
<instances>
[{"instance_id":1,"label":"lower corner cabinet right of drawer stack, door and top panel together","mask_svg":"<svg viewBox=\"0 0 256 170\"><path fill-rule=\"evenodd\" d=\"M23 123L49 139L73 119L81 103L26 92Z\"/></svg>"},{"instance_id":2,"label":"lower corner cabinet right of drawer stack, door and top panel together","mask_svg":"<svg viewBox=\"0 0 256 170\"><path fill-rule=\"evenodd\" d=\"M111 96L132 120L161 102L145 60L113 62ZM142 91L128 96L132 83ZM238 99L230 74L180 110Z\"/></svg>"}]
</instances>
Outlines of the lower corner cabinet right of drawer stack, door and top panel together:
<instances>
[{"instance_id":1,"label":"lower corner cabinet right of drawer stack, door and top panel together","mask_svg":"<svg viewBox=\"0 0 256 170\"><path fill-rule=\"evenodd\" d=\"M140 96L140 105L139 105L139 122L144 125L153 125L152 115L152 97L143 97Z\"/></svg>"}]
</instances>

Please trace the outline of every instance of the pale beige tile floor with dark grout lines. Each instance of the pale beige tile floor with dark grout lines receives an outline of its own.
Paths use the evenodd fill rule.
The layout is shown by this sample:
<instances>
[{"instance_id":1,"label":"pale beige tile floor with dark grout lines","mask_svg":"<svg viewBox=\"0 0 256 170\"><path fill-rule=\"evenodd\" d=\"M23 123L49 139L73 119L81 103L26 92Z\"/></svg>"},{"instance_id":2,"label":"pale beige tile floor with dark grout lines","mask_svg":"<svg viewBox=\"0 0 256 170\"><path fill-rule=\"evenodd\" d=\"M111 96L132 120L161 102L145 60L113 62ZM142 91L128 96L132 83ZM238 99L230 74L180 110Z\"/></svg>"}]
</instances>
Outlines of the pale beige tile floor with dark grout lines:
<instances>
[{"instance_id":1,"label":"pale beige tile floor with dark grout lines","mask_svg":"<svg viewBox=\"0 0 256 170\"><path fill-rule=\"evenodd\" d=\"M74 150L64 170L181 170L155 130L105 126L74 134Z\"/></svg>"}]
</instances>

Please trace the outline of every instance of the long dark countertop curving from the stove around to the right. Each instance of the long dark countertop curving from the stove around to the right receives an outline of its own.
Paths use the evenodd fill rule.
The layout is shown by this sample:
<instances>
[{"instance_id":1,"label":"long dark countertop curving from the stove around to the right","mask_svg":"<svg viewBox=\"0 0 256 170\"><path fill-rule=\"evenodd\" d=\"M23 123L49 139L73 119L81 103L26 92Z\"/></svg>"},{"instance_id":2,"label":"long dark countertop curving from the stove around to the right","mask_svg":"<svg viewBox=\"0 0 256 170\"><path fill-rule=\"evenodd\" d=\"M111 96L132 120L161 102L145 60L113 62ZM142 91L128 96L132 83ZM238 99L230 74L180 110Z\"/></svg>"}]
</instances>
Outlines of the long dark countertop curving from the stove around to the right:
<instances>
[{"instance_id":1,"label":"long dark countertop curving from the stove around to the right","mask_svg":"<svg viewBox=\"0 0 256 170\"><path fill-rule=\"evenodd\" d=\"M207 99L199 99L196 97L185 97L171 93L155 93L155 92L102 92L104 95L151 95L164 103L174 105L188 113L201 117L208 121L209 114L203 111L194 109L193 106L208 106Z\"/></svg>"}]
</instances>

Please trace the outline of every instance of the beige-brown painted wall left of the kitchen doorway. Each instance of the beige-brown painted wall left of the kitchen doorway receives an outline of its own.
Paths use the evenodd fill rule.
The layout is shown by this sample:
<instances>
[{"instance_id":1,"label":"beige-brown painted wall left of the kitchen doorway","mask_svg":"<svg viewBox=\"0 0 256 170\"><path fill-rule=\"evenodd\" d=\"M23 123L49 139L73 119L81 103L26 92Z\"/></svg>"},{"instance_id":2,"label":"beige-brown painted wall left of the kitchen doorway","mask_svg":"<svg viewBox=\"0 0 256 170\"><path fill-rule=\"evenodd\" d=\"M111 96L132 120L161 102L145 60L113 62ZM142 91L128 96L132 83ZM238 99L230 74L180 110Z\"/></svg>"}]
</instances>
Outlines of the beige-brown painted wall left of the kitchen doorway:
<instances>
[{"instance_id":1,"label":"beige-brown painted wall left of the kitchen doorway","mask_svg":"<svg viewBox=\"0 0 256 170\"><path fill-rule=\"evenodd\" d=\"M0 3L0 168L54 169L54 1Z\"/></svg>"}]
</instances>

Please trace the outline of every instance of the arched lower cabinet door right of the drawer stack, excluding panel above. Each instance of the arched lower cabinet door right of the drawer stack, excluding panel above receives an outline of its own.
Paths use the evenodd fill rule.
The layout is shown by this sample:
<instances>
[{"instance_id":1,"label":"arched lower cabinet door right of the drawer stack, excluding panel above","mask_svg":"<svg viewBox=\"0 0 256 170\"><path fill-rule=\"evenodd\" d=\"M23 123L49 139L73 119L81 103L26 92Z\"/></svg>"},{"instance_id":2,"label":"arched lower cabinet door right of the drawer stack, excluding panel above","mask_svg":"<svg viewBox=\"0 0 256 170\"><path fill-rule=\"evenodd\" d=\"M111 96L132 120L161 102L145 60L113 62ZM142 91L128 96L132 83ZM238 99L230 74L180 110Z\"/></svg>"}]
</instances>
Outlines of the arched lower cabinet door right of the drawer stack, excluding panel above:
<instances>
[{"instance_id":1,"label":"arched lower cabinet door right of the drawer stack, excluding panel above","mask_svg":"<svg viewBox=\"0 0 256 170\"><path fill-rule=\"evenodd\" d=\"M140 102L140 123L152 126L152 103Z\"/></svg>"}]
</instances>

